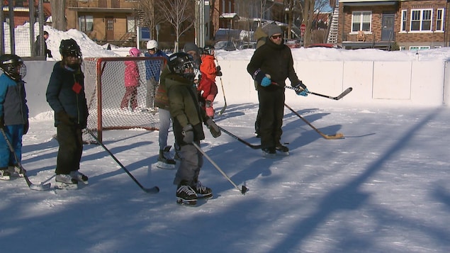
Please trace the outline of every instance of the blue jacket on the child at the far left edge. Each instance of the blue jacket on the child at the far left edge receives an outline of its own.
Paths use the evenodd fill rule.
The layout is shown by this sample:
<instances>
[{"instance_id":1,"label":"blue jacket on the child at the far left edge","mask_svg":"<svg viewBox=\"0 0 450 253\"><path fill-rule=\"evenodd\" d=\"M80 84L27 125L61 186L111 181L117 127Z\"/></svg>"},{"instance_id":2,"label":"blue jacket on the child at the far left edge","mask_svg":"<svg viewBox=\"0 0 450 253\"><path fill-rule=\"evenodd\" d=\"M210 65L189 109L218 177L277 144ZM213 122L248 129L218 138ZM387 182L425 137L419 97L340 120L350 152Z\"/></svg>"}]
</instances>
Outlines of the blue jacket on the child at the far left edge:
<instances>
[{"instance_id":1,"label":"blue jacket on the child at the far left edge","mask_svg":"<svg viewBox=\"0 0 450 253\"><path fill-rule=\"evenodd\" d=\"M4 116L5 125L25 124L28 120L24 84L6 74L0 75L0 116Z\"/></svg>"}]
</instances>

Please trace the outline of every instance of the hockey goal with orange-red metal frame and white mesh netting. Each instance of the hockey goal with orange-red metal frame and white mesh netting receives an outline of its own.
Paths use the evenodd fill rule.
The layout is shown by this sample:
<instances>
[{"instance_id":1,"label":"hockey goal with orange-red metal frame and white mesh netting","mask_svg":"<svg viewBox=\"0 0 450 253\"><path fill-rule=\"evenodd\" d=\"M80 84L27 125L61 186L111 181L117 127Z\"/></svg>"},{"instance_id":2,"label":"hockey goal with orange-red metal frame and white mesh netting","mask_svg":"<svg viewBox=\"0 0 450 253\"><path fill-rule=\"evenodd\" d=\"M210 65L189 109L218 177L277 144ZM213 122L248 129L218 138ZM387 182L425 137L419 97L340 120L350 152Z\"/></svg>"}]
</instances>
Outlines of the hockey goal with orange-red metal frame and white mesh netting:
<instances>
[{"instance_id":1,"label":"hockey goal with orange-red metal frame and white mesh netting","mask_svg":"<svg viewBox=\"0 0 450 253\"><path fill-rule=\"evenodd\" d=\"M126 107L123 108L125 96L125 62L137 64L139 73L135 99L137 107L131 103L128 96ZM146 67L145 62L148 61ZM159 116L153 110L151 97L157 91L157 86L147 84L147 76L159 76L161 69L167 63L164 57L88 57L84 58L84 91L89 109L86 129L102 141L103 130L125 130L142 128L146 130L159 129ZM157 83L156 83L157 84ZM154 88L154 89L153 89ZM122 108L121 108L122 107ZM95 143L91 134L84 130L83 141Z\"/></svg>"}]
</instances>

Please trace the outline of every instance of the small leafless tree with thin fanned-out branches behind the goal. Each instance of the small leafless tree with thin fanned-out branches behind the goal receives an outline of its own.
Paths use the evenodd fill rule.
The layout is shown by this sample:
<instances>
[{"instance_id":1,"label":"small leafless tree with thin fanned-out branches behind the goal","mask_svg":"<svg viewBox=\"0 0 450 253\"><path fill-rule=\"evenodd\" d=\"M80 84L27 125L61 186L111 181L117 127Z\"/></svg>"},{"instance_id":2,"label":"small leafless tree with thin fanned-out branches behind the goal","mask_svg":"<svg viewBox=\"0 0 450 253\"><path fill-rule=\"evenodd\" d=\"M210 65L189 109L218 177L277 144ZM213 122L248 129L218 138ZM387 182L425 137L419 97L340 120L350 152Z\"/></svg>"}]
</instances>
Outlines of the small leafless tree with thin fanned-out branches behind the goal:
<instances>
[{"instance_id":1,"label":"small leafless tree with thin fanned-out branches behind the goal","mask_svg":"<svg viewBox=\"0 0 450 253\"><path fill-rule=\"evenodd\" d=\"M180 36L193 27L196 22L194 2L192 0L157 1L164 19L171 24L175 30L175 52L178 51Z\"/></svg>"}]
</instances>

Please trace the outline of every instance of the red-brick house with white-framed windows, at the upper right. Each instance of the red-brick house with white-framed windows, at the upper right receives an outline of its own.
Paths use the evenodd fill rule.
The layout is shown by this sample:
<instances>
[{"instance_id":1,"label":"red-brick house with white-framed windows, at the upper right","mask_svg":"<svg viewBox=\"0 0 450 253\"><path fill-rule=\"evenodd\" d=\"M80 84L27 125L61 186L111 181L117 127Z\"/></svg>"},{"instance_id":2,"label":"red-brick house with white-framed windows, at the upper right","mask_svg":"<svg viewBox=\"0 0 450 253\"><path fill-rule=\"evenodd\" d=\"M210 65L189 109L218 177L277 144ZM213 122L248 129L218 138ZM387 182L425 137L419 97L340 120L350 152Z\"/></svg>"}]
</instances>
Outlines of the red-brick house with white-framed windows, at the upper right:
<instances>
[{"instance_id":1,"label":"red-brick house with white-framed windows, at the upper right","mask_svg":"<svg viewBox=\"0 0 450 253\"><path fill-rule=\"evenodd\" d=\"M446 0L339 0L337 43L347 49L449 45Z\"/></svg>"}]
</instances>

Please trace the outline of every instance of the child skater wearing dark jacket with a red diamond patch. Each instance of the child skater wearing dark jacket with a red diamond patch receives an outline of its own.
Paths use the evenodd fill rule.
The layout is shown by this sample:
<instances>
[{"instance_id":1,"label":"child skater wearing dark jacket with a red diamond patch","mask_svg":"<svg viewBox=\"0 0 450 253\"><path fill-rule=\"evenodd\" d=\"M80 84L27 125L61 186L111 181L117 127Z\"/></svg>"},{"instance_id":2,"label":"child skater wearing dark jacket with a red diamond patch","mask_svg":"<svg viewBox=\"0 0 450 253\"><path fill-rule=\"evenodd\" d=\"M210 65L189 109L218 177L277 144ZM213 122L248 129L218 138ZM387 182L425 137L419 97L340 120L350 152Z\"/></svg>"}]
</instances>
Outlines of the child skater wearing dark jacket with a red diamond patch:
<instances>
[{"instance_id":1,"label":"child skater wearing dark jacket with a red diamond patch","mask_svg":"<svg viewBox=\"0 0 450 253\"><path fill-rule=\"evenodd\" d=\"M56 164L56 186L76 189L78 182L87 184L88 177L78 172L88 109L81 72L81 51L73 39L62 40L62 61L55 63L47 86L47 102L55 111L55 127L60 145Z\"/></svg>"}]
</instances>

